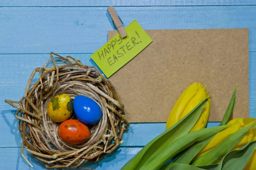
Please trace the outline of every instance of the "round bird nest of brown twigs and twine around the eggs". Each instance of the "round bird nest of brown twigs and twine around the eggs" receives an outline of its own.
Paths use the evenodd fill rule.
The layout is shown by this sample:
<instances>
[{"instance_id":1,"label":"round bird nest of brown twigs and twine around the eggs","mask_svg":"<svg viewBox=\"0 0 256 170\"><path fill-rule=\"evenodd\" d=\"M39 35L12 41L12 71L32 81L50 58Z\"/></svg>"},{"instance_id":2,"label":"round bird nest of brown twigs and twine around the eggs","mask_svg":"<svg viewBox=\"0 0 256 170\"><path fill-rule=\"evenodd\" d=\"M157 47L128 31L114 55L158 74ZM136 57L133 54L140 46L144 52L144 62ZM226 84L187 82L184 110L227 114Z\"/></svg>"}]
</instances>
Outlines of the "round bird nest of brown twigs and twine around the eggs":
<instances>
[{"instance_id":1,"label":"round bird nest of brown twigs and twine around the eggs","mask_svg":"<svg viewBox=\"0 0 256 170\"><path fill-rule=\"evenodd\" d=\"M54 57L53 57L54 56ZM18 130L23 147L47 168L79 167L83 162L98 161L122 143L122 135L129 123L125 119L115 88L94 66L84 66L73 57L50 53L51 59L42 68L35 68L19 101L6 99L17 108ZM51 66L49 66L51 65ZM35 78L39 74L38 80ZM32 83L34 82L34 83ZM47 115L47 104L53 96L68 94L88 96L98 103L101 119L90 126L91 136L81 144L67 144L58 136L61 123L53 122ZM72 114L70 119L77 119Z\"/></svg>"}]
</instances>

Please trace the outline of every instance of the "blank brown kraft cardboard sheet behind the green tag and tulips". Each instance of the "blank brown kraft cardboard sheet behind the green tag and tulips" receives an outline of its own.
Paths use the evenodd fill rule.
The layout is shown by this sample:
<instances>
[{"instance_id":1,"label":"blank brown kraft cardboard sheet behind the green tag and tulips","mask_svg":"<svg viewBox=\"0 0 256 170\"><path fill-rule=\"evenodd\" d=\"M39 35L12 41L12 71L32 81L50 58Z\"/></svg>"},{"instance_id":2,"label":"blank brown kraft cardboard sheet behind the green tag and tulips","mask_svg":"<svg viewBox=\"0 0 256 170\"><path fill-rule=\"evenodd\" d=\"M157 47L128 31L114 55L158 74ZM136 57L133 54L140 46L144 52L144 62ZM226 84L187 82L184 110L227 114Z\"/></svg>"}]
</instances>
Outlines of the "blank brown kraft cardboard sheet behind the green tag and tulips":
<instances>
[{"instance_id":1,"label":"blank brown kraft cardboard sheet behind the green tag and tulips","mask_svg":"<svg viewBox=\"0 0 256 170\"><path fill-rule=\"evenodd\" d=\"M194 82L212 97L209 122L221 122L236 84L231 118L249 117L247 28L145 31L153 42L109 78L128 122L166 122ZM108 31L108 40L116 34Z\"/></svg>"}]
</instances>

